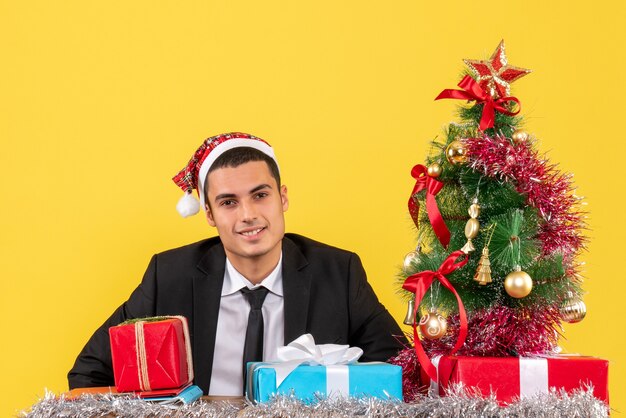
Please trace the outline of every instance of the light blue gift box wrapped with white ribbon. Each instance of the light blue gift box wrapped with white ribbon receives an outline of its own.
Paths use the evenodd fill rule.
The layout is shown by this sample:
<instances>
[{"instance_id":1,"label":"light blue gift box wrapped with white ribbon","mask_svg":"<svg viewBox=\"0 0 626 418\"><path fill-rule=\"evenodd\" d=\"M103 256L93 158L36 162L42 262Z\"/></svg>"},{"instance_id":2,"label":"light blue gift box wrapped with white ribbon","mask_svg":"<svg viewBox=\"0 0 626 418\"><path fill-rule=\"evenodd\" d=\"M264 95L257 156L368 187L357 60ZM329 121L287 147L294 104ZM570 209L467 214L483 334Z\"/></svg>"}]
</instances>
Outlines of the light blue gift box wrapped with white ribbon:
<instances>
[{"instance_id":1,"label":"light blue gift box wrapped with white ribbon","mask_svg":"<svg viewBox=\"0 0 626 418\"><path fill-rule=\"evenodd\" d=\"M344 393L327 393L333 387L328 374L336 375L337 367L347 368L349 396L375 397L402 400L402 367L387 363L353 363L346 366L309 366L302 364L276 387L276 363L248 363L246 397L254 403L267 402L273 395L292 393L300 400L310 403L319 397L345 396ZM346 373L340 373L346 374ZM330 383L330 384L329 384Z\"/></svg>"}]
</instances>

